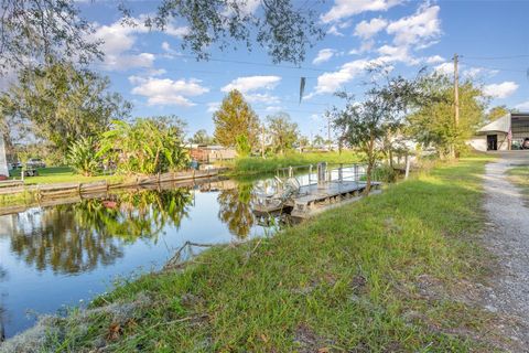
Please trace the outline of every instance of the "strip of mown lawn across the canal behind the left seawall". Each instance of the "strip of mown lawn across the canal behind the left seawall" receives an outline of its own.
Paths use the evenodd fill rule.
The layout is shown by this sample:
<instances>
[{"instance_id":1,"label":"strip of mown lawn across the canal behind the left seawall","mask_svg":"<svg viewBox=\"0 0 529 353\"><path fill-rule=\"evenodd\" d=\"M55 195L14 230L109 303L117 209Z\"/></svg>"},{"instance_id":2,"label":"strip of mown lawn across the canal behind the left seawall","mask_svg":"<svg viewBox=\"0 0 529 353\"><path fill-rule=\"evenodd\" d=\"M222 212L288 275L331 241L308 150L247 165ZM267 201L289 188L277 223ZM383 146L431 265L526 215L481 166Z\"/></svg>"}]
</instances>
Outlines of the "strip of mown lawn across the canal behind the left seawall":
<instances>
[{"instance_id":1,"label":"strip of mown lawn across the canal behind the left seawall","mask_svg":"<svg viewBox=\"0 0 529 353\"><path fill-rule=\"evenodd\" d=\"M65 183L65 182L90 182L98 180L109 180L118 181L122 176L117 175L96 175L96 176L83 176L76 174L74 170L69 167L50 167L50 168L37 168L37 176L25 176L24 183L28 185L32 184L50 184L50 183ZM12 173L12 178L20 179L21 169L15 170Z\"/></svg>"}]
</instances>

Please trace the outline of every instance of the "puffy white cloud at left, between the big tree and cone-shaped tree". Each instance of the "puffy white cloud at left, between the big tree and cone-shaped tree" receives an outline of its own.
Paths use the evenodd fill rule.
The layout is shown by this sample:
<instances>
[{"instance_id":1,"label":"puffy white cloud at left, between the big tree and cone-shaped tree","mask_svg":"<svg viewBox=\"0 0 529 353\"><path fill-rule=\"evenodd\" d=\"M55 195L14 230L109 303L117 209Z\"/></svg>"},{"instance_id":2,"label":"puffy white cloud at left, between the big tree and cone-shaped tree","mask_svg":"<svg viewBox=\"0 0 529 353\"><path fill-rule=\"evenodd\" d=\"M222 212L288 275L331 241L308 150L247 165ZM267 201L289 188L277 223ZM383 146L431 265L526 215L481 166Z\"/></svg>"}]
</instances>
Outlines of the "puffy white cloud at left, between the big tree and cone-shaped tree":
<instances>
[{"instance_id":1,"label":"puffy white cloud at left, between the big tree and cone-shaped tree","mask_svg":"<svg viewBox=\"0 0 529 353\"><path fill-rule=\"evenodd\" d=\"M199 96L209 92L207 87L201 86L201 81L191 79L177 79L170 78L154 78L154 77L140 77L130 76L130 83L136 85L131 93L148 98L149 105L176 105L190 107L195 104L187 97Z\"/></svg>"}]
</instances>

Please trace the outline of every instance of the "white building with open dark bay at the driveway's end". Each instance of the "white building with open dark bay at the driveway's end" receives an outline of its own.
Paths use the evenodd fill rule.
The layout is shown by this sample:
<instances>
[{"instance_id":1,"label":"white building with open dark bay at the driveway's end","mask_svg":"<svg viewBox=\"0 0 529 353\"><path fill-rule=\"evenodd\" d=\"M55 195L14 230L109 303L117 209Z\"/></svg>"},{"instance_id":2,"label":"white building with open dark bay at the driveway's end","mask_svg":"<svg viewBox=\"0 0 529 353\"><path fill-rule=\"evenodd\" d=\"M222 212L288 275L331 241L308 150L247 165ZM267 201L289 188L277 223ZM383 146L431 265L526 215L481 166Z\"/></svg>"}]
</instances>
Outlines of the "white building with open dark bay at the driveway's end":
<instances>
[{"instance_id":1,"label":"white building with open dark bay at the driveway's end","mask_svg":"<svg viewBox=\"0 0 529 353\"><path fill-rule=\"evenodd\" d=\"M529 113L509 113L477 130L468 145L478 151L518 149L529 138Z\"/></svg>"}]
</instances>

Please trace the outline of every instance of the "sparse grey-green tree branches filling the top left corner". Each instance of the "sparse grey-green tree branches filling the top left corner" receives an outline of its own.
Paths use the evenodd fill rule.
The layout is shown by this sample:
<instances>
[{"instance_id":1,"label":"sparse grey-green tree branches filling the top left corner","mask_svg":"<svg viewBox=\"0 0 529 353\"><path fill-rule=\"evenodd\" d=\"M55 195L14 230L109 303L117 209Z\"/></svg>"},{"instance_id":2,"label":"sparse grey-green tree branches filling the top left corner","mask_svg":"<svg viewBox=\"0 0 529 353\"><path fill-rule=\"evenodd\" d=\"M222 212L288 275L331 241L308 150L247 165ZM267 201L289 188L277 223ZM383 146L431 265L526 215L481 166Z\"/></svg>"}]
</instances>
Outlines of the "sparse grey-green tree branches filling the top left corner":
<instances>
[{"instance_id":1,"label":"sparse grey-green tree branches filling the top left corner","mask_svg":"<svg viewBox=\"0 0 529 353\"><path fill-rule=\"evenodd\" d=\"M1 0L0 74L50 58L88 64L102 57L74 1Z\"/></svg>"}]
</instances>

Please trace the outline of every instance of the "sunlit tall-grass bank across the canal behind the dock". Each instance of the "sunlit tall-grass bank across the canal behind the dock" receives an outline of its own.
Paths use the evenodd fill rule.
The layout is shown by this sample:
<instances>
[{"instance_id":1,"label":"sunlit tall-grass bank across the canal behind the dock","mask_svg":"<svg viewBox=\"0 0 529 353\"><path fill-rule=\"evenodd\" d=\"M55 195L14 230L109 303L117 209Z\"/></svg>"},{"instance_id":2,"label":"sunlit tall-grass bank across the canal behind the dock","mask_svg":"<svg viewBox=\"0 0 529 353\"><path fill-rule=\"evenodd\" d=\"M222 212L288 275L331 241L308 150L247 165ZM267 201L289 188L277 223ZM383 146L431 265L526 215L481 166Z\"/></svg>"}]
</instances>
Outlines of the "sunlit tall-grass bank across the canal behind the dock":
<instances>
[{"instance_id":1,"label":"sunlit tall-grass bank across the canal behind the dock","mask_svg":"<svg viewBox=\"0 0 529 353\"><path fill-rule=\"evenodd\" d=\"M259 157L238 158L231 167L236 174L257 174L274 172L278 168L287 168L290 165L315 164L317 162L354 163L359 160L359 156L350 151L344 151L342 153L288 153L266 159Z\"/></svg>"}]
</instances>

